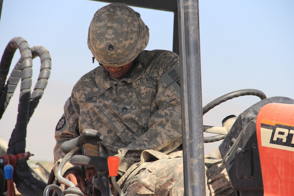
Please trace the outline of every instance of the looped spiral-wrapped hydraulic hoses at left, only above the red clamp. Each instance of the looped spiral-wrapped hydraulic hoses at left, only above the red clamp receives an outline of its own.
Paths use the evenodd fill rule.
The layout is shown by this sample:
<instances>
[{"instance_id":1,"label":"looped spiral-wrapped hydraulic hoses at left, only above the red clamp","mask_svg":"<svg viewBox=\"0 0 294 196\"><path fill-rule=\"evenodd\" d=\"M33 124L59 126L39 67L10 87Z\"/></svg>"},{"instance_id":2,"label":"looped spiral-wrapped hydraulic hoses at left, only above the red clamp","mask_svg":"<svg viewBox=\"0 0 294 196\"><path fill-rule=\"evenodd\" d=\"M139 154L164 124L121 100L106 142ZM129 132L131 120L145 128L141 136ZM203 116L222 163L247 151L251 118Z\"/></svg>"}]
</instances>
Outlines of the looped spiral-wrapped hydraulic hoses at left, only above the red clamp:
<instances>
[{"instance_id":1,"label":"looped spiral-wrapped hydraulic hoses at left, only above the red clamp","mask_svg":"<svg viewBox=\"0 0 294 196\"><path fill-rule=\"evenodd\" d=\"M20 50L21 58L16 63L7 84L4 86L11 60L17 48ZM39 56L41 59L41 68L38 81L34 87L34 91L31 93L31 77L33 73L32 59L36 56ZM21 93L19 96L17 122L9 140L7 149L8 154L24 153L25 151L26 127L39 103L39 99L44 93L44 89L46 88L50 76L50 69L51 57L49 52L43 46L34 46L30 48L26 40L21 37L15 37L7 44L0 64L0 74L1 71L3 73L0 78L0 88L3 89L0 97L0 116L3 115L21 78Z\"/></svg>"}]
</instances>

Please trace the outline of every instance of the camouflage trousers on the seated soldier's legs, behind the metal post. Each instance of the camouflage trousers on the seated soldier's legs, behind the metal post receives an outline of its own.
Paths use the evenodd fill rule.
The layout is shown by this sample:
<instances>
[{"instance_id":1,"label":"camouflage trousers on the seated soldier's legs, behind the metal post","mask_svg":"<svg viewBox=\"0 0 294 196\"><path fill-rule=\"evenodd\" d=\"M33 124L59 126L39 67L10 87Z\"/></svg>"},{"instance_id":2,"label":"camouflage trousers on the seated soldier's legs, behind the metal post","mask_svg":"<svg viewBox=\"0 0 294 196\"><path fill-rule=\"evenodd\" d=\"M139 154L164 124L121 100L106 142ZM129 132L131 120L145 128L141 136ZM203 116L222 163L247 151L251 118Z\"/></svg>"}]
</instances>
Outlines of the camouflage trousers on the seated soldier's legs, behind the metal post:
<instances>
[{"instance_id":1,"label":"camouflage trousers on the seated soldier's legs, behind the metal post","mask_svg":"<svg viewBox=\"0 0 294 196\"><path fill-rule=\"evenodd\" d=\"M235 196L221 160L205 158L206 195ZM125 196L184 195L183 158L145 162L129 175L123 187Z\"/></svg>"}]
</instances>

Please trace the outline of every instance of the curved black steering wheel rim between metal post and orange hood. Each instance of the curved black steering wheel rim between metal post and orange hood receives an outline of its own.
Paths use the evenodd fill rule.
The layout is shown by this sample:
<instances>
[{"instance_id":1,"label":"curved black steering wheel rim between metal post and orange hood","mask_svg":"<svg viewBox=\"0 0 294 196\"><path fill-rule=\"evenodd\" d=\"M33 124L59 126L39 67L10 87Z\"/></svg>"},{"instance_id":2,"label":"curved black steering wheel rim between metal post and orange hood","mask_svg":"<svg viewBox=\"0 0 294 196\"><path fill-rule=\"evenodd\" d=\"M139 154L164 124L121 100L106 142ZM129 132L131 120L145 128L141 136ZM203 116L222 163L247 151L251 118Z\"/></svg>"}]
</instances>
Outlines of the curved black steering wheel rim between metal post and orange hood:
<instances>
[{"instance_id":1,"label":"curved black steering wheel rim between metal post and orange hood","mask_svg":"<svg viewBox=\"0 0 294 196\"><path fill-rule=\"evenodd\" d=\"M213 100L210 103L208 103L207 105L205 105L203 107L203 115L206 114L212 108L216 107L217 105L219 105L227 100L230 100L230 99L233 99L236 97L240 97L240 96L247 96L247 95L257 96L261 100L266 99L266 95L262 91L259 91L256 89L243 89L243 90L233 91L233 92L225 94L219 98L216 98L215 100ZM204 137L203 141L204 141L204 143L210 143L210 142L216 142L219 140L223 140L224 138L225 138L225 135L214 135L214 136L210 136L210 137Z\"/></svg>"}]
</instances>

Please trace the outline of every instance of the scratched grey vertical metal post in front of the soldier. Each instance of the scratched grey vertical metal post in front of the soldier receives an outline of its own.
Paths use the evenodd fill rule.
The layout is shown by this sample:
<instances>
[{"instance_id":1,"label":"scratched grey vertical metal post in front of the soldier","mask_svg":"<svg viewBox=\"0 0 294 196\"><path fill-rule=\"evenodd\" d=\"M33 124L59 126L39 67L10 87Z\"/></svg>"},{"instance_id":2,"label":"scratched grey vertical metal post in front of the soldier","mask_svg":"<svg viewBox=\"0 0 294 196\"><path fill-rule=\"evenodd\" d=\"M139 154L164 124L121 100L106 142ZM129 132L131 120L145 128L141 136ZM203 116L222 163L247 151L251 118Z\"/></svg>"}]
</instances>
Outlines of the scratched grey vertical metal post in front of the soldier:
<instances>
[{"instance_id":1,"label":"scratched grey vertical metal post in front of the soldier","mask_svg":"<svg viewBox=\"0 0 294 196\"><path fill-rule=\"evenodd\" d=\"M178 0L184 188L206 195L198 0Z\"/></svg>"}]
</instances>

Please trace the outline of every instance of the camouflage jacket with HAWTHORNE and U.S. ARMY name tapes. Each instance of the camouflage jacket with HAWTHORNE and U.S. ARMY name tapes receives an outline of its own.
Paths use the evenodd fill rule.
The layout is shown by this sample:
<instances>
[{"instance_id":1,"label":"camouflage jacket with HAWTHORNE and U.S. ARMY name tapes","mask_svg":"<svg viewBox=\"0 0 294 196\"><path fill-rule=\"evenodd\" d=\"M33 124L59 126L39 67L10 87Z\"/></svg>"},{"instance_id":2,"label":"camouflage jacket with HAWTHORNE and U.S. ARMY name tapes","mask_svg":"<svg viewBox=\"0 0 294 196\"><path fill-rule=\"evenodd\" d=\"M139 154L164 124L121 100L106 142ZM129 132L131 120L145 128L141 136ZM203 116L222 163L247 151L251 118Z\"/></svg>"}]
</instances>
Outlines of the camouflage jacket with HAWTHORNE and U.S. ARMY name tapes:
<instances>
[{"instance_id":1,"label":"camouflage jacket with HAWTHORNE and U.S. ARMY name tapes","mask_svg":"<svg viewBox=\"0 0 294 196\"><path fill-rule=\"evenodd\" d=\"M143 150L171 153L182 143L179 77L179 57L164 50L142 51L119 80L103 66L82 76L56 126L55 162L60 145L88 128L103 135L100 156L120 158L120 175Z\"/></svg>"}]
</instances>

